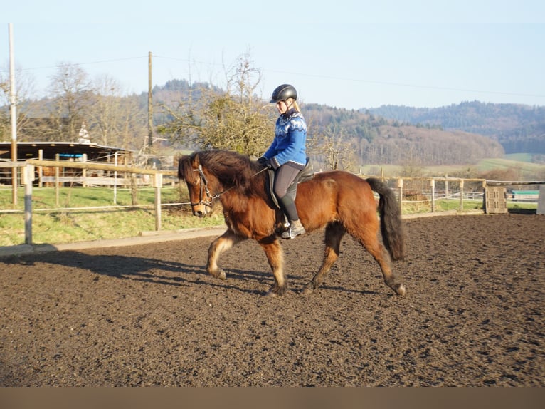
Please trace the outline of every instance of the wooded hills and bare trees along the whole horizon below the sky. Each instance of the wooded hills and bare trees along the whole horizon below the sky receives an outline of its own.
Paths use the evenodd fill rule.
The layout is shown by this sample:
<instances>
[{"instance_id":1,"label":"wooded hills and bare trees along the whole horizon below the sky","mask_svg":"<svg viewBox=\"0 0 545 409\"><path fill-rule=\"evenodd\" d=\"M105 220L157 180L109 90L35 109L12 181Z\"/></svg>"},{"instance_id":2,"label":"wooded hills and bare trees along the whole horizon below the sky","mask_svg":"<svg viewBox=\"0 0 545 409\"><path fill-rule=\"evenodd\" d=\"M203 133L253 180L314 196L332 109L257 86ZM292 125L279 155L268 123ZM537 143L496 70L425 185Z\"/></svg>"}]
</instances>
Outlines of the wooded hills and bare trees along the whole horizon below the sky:
<instances>
[{"instance_id":1,"label":"wooded hills and bare trees along the whole horizon below the sky","mask_svg":"<svg viewBox=\"0 0 545 409\"><path fill-rule=\"evenodd\" d=\"M220 148L258 156L272 140L277 111L255 95L260 72L247 57L227 73L225 88L183 79L155 86L152 144L147 93L123 95L114 79L92 81L80 66L63 64L51 78L46 97L18 95L18 140L77 141L85 124L92 143L147 155ZM6 100L9 87L1 85ZM537 151L544 144L545 108L475 102L438 109L390 105L361 111L307 101L301 108L308 124L309 154L324 169L471 165L502 157L507 148ZM9 140L9 128L6 103L0 109L0 140Z\"/></svg>"}]
</instances>

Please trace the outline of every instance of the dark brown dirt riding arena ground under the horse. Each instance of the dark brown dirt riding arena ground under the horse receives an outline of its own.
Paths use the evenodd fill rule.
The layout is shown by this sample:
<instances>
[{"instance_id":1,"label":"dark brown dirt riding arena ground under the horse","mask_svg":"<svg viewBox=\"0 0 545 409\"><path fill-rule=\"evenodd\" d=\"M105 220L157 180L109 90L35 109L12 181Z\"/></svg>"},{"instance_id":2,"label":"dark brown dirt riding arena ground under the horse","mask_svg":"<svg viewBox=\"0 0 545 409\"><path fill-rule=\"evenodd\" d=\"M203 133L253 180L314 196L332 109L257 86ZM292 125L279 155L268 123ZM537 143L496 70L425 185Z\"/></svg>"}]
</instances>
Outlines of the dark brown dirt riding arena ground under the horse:
<instances>
[{"instance_id":1,"label":"dark brown dirt riding arena ground under the horse","mask_svg":"<svg viewBox=\"0 0 545 409\"><path fill-rule=\"evenodd\" d=\"M208 276L213 237L0 259L0 385L545 386L545 217L406 220L407 294L346 237L297 294L322 234L284 242L290 291L243 242Z\"/></svg>"}]
</instances>

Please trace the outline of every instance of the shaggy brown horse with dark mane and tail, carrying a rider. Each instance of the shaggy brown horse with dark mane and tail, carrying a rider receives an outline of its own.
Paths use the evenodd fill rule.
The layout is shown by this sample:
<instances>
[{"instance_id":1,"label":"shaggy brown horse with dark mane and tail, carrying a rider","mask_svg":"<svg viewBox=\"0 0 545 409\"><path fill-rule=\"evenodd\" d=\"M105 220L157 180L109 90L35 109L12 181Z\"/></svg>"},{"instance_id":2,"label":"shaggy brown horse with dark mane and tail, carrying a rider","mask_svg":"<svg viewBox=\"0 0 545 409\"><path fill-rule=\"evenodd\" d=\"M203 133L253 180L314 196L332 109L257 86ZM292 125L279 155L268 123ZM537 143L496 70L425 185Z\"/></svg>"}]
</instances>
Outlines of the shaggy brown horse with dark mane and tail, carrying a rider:
<instances>
[{"instance_id":1,"label":"shaggy brown horse with dark mane and tail, carrying a rider","mask_svg":"<svg viewBox=\"0 0 545 409\"><path fill-rule=\"evenodd\" d=\"M265 174L258 162L236 152L210 150L194 152L179 160L178 177L185 180L191 209L204 217L213 200L219 199L227 231L208 248L206 270L226 279L218 258L234 244L255 239L265 251L275 277L268 295L282 295L287 289L284 253L276 234L276 207L265 189ZM379 217L373 192L379 193ZM307 232L325 227L325 253L322 266L302 290L307 294L322 283L339 257L341 239L346 232L372 254L381 267L386 284L398 295L405 286L391 270L391 259L402 259L404 252L401 217L393 191L380 180L363 180L343 171L320 172L297 186L295 200L300 220Z\"/></svg>"}]
</instances>

